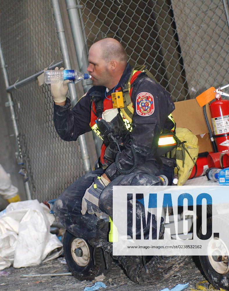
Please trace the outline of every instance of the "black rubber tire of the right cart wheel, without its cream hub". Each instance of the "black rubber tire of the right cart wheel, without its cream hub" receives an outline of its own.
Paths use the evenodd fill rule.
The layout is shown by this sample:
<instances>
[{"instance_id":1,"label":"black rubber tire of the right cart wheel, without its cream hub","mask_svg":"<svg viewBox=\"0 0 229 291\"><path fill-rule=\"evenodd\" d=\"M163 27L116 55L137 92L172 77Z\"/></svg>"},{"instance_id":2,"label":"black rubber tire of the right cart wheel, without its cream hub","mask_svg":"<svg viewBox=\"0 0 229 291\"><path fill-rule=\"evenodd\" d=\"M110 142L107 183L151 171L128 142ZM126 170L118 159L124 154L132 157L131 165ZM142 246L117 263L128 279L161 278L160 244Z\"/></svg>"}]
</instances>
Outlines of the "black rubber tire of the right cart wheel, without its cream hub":
<instances>
[{"instance_id":1,"label":"black rubber tire of the right cart wheel, without its cream hub","mask_svg":"<svg viewBox=\"0 0 229 291\"><path fill-rule=\"evenodd\" d=\"M209 229L211 229L212 217L207 219L207 225L209 225ZM198 232L199 238L201 238L202 235L201 230L202 226ZM207 281L209 281L216 289L223 288L229 290L229 285L225 285L226 282L227 284L229 283L229 271L226 274L220 274L212 268L208 256L199 256L199 259Z\"/></svg>"}]
</instances>

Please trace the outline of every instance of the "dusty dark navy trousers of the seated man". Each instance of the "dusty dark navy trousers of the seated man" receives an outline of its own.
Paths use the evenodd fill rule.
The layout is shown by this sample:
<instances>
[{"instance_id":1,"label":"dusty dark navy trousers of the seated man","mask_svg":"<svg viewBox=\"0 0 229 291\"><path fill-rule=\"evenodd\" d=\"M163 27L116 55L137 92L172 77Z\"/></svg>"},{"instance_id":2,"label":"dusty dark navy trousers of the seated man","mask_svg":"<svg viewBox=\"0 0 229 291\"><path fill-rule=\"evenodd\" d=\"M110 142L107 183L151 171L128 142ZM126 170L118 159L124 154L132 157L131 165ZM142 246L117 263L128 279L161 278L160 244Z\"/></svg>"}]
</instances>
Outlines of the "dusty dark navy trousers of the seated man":
<instances>
[{"instance_id":1,"label":"dusty dark navy trousers of the seated man","mask_svg":"<svg viewBox=\"0 0 229 291\"><path fill-rule=\"evenodd\" d=\"M163 172L157 170L157 175ZM65 191L58 197L54 206L53 212L58 217L59 221L65 228L74 236L81 237L86 240L92 238L107 239L108 235L108 222L96 217L94 214L87 212L82 215L81 201L84 196L85 190L90 187L94 178L103 174L101 168L96 169L90 173L85 174L81 178L73 182ZM156 175L149 175L142 170L135 170L128 175L119 175L108 186L104 188L99 198L100 209L112 217L112 187L113 186L150 186L160 185L160 178ZM128 201L132 203L132 201ZM141 205L139 205L139 208ZM127 212L127 217L132 217L132 211ZM141 223L141 217L136 218L136 223ZM155 223L155 236L156 236L156 221ZM127 232L132 233L132 226L127 225ZM145 231L149 231L149 228ZM143 230L144 231L144 230ZM144 233L145 233L144 231Z\"/></svg>"}]
</instances>

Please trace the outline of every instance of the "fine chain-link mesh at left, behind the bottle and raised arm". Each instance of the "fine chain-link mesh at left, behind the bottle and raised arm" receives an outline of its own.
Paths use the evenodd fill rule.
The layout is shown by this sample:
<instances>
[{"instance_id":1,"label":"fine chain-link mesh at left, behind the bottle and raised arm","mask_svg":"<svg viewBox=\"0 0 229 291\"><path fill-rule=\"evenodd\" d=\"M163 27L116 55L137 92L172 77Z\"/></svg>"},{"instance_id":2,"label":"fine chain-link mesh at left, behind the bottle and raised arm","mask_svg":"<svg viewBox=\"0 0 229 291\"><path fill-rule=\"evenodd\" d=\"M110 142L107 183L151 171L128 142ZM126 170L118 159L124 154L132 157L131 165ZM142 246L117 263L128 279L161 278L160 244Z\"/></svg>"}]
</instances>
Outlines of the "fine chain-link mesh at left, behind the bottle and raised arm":
<instances>
[{"instance_id":1,"label":"fine chain-link mesh at left, behind the bottle and raised arm","mask_svg":"<svg viewBox=\"0 0 229 291\"><path fill-rule=\"evenodd\" d=\"M0 18L10 85L62 60L51 1L5 1ZM12 99L31 196L57 198L84 173L78 141L56 134L50 85L33 81L13 91Z\"/></svg>"}]
</instances>

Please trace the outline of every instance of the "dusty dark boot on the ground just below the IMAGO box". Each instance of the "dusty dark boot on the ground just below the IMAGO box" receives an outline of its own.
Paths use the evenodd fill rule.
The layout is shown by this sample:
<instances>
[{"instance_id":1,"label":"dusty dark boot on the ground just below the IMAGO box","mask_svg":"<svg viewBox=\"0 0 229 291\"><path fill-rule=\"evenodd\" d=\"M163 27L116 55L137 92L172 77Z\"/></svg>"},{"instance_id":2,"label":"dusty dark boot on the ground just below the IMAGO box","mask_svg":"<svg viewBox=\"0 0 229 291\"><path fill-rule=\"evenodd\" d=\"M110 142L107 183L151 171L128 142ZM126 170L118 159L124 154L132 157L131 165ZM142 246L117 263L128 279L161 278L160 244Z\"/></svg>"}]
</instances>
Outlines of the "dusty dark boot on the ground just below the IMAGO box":
<instances>
[{"instance_id":1,"label":"dusty dark boot on the ground just below the IMAGO box","mask_svg":"<svg viewBox=\"0 0 229 291\"><path fill-rule=\"evenodd\" d=\"M150 285L163 281L187 264L190 258L191 256L153 256L146 264L149 274L143 267L137 274L137 282L140 285Z\"/></svg>"}]
</instances>

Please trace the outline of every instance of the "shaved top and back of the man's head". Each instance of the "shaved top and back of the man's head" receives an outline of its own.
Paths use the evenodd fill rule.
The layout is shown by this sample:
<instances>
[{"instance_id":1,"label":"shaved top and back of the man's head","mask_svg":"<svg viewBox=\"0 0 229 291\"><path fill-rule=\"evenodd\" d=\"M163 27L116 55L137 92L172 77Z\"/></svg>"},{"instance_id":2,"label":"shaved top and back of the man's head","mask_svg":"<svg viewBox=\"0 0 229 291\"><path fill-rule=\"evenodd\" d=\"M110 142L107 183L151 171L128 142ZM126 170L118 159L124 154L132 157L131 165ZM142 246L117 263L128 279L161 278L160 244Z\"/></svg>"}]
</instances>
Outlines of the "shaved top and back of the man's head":
<instances>
[{"instance_id":1,"label":"shaved top and back of the man's head","mask_svg":"<svg viewBox=\"0 0 229 291\"><path fill-rule=\"evenodd\" d=\"M119 63L123 63L126 67L127 55L124 47L120 42L114 38L103 38L95 42L92 46L98 47L101 51L101 58L106 62L116 60Z\"/></svg>"}]
</instances>

